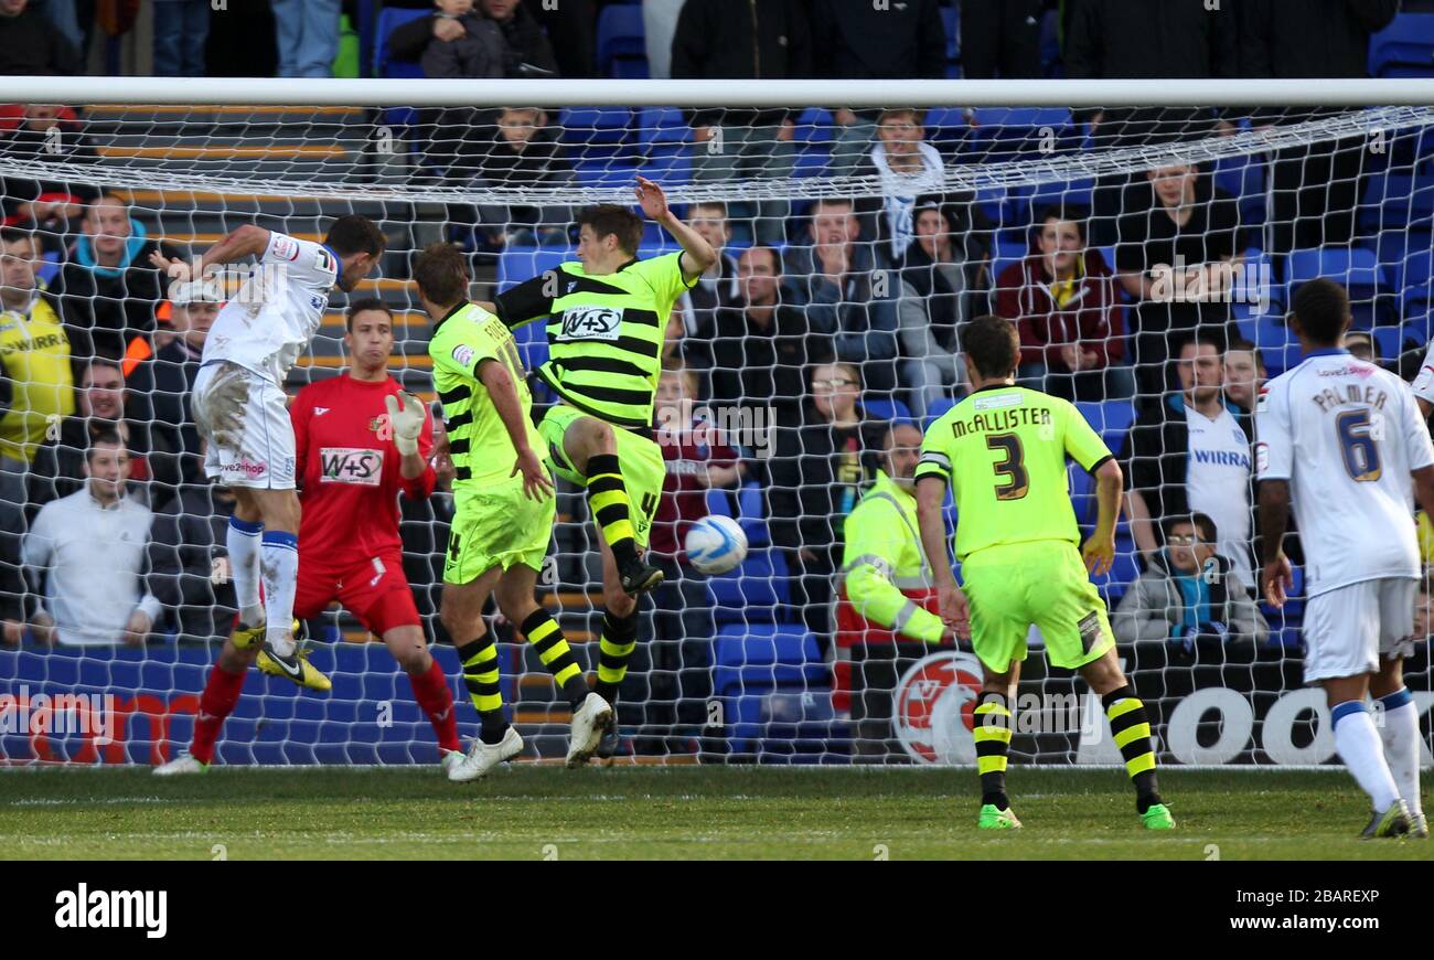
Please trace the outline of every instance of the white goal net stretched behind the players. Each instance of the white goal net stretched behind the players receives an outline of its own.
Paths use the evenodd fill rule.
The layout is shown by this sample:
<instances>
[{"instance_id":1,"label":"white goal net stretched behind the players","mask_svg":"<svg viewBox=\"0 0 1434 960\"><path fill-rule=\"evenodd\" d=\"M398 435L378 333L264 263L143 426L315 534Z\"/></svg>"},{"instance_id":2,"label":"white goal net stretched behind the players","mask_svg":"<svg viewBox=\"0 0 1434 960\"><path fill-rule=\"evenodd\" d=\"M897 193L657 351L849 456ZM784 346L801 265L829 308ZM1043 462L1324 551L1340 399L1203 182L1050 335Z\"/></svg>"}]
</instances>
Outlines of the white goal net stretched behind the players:
<instances>
[{"instance_id":1,"label":"white goal net stretched behind the players","mask_svg":"<svg viewBox=\"0 0 1434 960\"><path fill-rule=\"evenodd\" d=\"M1235 106L1229 88L1205 100L1229 106L1169 90L1154 106L1139 85L1064 105L1050 83L771 86L716 106L681 83L518 83L475 106L469 88L346 105L331 90L386 88L260 82L245 100L201 83L179 88L188 103L151 86L0 110L0 758L174 756L229 627L232 505L204 481L185 397L214 309L149 251L196 257L248 222L321 240L343 214L379 221L381 270L333 294L285 386L340 375L344 311L377 298L391 376L436 405L417 251L459 244L473 298L492 300L574 260L576 211L634 207L647 177L721 258L667 326L654 428L668 478L650 534L667 581L640 604L618 762L974 763L979 664L941 640L902 481L919 430L965 396L962 331L989 313L1020 327L1020 380L1074 400L1136 494L1096 585L1162 762L1329 761L1322 695L1302 684L1302 588L1283 610L1253 596L1250 410L1260 379L1299 360L1285 314L1315 277L1348 287L1352 347L1417 375L1434 108L1289 106L1314 98L1259 86L1239 95L1283 105ZM860 106L833 106L845 96ZM675 250L648 222L637 255ZM543 324L515 336L529 372L548 359ZM531 380L541 416L554 397ZM106 428L129 448L133 527L80 508ZM1070 485L1084 535L1093 481L1073 465ZM595 673L597 532L581 491L559 484L558 499L541 601ZM466 739L476 715L437 617L452 509L442 491L404 501L402 535ZM746 532L730 574L704 577L683 552L708 514ZM135 604L153 614L143 637ZM1417 624L1423 640L1423 607ZM492 626L528 758L561 758L566 703L512 624ZM435 761L383 644L337 606L308 627L333 690L252 672L219 761ZM1044 664L1038 630L1028 640L1012 755L1119 763L1098 702ZM1427 730L1425 643L1407 677Z\"/></svg>"}]
</instances>

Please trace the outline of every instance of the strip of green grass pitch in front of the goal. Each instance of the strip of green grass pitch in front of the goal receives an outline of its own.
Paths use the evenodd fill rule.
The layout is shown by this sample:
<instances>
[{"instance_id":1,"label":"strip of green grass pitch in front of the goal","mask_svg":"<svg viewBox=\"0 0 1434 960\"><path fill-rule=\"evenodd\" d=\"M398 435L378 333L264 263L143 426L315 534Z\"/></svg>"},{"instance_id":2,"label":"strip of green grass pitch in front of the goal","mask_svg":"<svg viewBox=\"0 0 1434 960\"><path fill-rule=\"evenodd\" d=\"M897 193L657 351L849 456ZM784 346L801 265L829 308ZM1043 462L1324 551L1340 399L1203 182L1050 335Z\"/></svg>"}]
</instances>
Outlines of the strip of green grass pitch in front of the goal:
<instances>
[{"instance_id":1,"label":"strip of green grass pitch in front of the goal","mask_svg":"<svg viewBox=\"0 0 1434 960\"><path fill-rule=\"evenodd\" d=\"M1014 834L975 829L959 769L516 765L466 785L436 766L9 769L0 858L1434 860L1434 841L1359 841L1342 771L1160 778L1174 834L1140 828L1114 769L1012 768Z\"/></svg>"}]
</instances>

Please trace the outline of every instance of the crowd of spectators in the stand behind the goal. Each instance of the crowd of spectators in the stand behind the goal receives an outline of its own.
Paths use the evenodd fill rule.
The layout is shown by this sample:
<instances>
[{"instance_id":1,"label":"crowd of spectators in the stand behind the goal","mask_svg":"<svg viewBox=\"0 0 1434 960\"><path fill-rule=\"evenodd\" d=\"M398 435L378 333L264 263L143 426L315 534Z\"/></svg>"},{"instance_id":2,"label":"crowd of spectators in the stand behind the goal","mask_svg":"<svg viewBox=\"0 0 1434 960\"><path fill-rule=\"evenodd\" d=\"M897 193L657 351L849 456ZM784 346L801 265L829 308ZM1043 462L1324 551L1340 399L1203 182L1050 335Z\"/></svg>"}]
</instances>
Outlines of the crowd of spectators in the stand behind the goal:
<instances>
[{"instance_id":1,"label":"crowd of spectators in the stand behind the goal","mask_svg":"<svg viewBox=\"0 0 1434 960\"><path fill-rule=\"evenodd\" d=\"M0 0L0 72L80 69L80 47L50 19L50 6ZM430 76L594 75L601 4L556 6L437 0L387 43ZM911 0L901 16L842 0L763 3L760 10L744 0L651 6L655 17L665 16L673 77L893 79L946 70L936 0ZM1338 33L1348 47L1339 47L1339 69L1357 75L1368 34L1394 6L1331 4L1331 26L1312 20L1299 29L1306 47L1316 33ZM156 3L156 75L204 73L208 7ZM282 76L328 75L340 7L272 1ZM1315 72L1319 65L1301 59L1308 52L1268 29L1272 7L1243 0L1219 17L1200 3L1080 0L1068 4L1065 73ZM1035 75L1031 24L1041 13L1037 0L1002 0L999 9L968 0L968 75ZM880 198L763 198L685 211L720 255L674 311L658 393L660 410L680 413L665 423L660 413L658 423L671 429L673 442L663 443L668 485L652 531L667 583L652 624L650 696L664 703L704 696L706 673L684 673L704 662L714 613L681 544L713 489L761 486L774 550L790 577L790 608L822 644L830 643L845 519L879 478L892 479L893 458L912 445L913 426L965 395L961 333L989 313L1020 331L1021 383L1073 400L1137 405L1119 459L1141 570L1124 584L1113 616L1120 640L1170 641L1184 657L1210 644L1265 641L1271 624L1253 596L1250 441L1268 372L1256 346L1239 337L1225 296L1230 268L1253 240L1236 198L1195 165L1113 177L1096 185L1091 208L1055 202L1032 211L1024 255L999 257L987 205L944 189L948 159L931 141L923 112L827 106L836 131L825 172L872 178ZM694 110L684 119L697 182L792 175L793 110ZM1123 109L1081 119L1100 145L1121 145L1233 129L1246 118ZM1278 125L1291 118L1260 112L1248 119ZM496 187L574 182L548 109L432 110L417 128L435 161L427 175L443 182L489 197ZM63 133L53 138L59 152L46 149L54 129ZM714 138L720 148L711 146ZM1351 156L1339 142L1326 148L1273 158L1272 253L1354 238L1358 151ZM80 118L46 105L0 113L0 151L26 161L95 161ZM1322 177L1339 188L1314 189L1311 178ZM7 177L3 191L3 637L13 643L26 629L36 640L66 644L142 643L161 630L219 636L232 616L232 591L221 575L232 497L201 476L188 397L224 293L204 283L171 287L151 254L182 251L152 240L156 224L120 195L63 177ZM556 204L450 204L447 224L470 250L492 251L566 244L572 215ZM1197 293L1172 298L1166 288ZM1352 333L1349 347L1378 360L1368 334ZM694 420L690 409L700 403L774 410L771 456L753 458ZM406 527L433 540L423 554L430 560L420 564L433 574L442 517L409 519ZM86 550L95 538L115 550ZM436 580L410 574L417 584ZM701 722L677 713L650 719Z\"/></svg>"}]
</instances>

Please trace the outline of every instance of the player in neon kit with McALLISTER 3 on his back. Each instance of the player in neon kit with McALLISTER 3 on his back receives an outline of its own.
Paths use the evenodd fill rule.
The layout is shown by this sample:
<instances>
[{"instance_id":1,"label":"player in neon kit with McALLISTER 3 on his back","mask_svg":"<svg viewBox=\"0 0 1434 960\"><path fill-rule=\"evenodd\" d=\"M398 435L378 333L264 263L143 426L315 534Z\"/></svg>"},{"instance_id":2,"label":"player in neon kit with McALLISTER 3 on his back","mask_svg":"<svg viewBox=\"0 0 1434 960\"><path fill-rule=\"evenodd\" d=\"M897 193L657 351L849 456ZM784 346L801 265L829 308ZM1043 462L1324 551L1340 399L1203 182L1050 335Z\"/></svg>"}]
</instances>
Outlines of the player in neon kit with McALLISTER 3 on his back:
<instances>
[{"instance_id":1,"label":"player in neon kit with McALLISTER 3 on his back","mask_svg":"<svg viewBox=\"0 0 1434 960\"><path fill-rule=\"evenodd\" d=\"M1014 323L978 317L962 346L974 392L926 430L916 465L916 514L926 560L936 571L941 618L971 637L984 674L974 733L981 773L977 825L1021 825L1007 799L1005 763L1015 684L1034 623L1051 664L1078 672L1106 706L1141 824L1172 829L1174 818L1156 783L1150 720L1120 669L1106 604L1088 577L1110 570L1116 552L1120 466L1074 405L1015 386L1021 346ZM1081 550L1067 456L1097 484L1100 514ZM948 485L965 590L946 558L941 504Z\"/></svg>"}]
</instances>

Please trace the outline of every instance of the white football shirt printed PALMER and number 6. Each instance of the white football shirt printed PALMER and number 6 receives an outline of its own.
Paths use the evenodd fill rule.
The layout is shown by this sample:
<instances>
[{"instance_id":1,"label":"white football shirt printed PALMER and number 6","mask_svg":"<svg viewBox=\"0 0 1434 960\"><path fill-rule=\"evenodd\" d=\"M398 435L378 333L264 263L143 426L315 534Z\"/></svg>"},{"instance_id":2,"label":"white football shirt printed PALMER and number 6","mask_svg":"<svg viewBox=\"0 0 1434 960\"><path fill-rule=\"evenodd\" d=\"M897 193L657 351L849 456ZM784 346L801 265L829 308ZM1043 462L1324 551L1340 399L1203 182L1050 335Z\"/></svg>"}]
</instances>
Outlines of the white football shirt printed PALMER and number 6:
<instances>
[{"instance_id":1,"label":"white football shirt printed PALMER and number 6","mask_svg":"<svg viewBox=\"0 0 1434 960\"><path fill-rule=\"evenodd\" d=\"M1418 577L1412 471L1434 445L1410 387L1348 350L1316 350L1260 389L1259 478L1289 481L1311 597Z\"/></svg>"}]
</instances>

